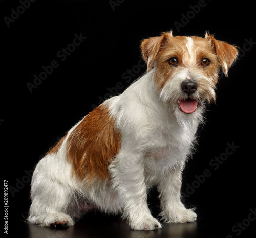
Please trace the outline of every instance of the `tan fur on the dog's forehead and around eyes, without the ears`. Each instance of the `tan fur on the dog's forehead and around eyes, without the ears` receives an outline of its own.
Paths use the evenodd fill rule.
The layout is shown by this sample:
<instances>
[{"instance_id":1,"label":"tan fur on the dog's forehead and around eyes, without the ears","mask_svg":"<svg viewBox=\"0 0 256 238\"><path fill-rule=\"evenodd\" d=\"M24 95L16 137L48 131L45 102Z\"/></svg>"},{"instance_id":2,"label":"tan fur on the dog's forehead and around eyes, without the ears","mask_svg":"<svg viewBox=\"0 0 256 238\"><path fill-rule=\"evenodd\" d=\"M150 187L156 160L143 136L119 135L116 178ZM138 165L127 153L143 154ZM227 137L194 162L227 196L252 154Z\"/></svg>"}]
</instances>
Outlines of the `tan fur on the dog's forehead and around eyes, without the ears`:
<instances>
[{"instance_id":1,"label":"tan fur on the dog's forehead and around eyes, without the ears","mask_svg":"<svg viewBox=\"0 0 256 238\"><path fill-rule=\"evenodd\" d=\"M195 57L193 61L191 61L191 53L189 53L186 46L188 42L186 37L175 36L166 40L162 45L155 58L157 67L154 80L158 91L162 90L164 85L179 71L180 67L200 70L205 76L214 80L213 83L217 82L219 63L211 44L207 39L201 37L193 36L191 39L193 40L193 46L190 50L193 57ZM168 60L171 57L178 59L178 66L169 65ZM201 65L203 58L210 60L211 63L208 67Z\"/></svg>"}]
</instances>

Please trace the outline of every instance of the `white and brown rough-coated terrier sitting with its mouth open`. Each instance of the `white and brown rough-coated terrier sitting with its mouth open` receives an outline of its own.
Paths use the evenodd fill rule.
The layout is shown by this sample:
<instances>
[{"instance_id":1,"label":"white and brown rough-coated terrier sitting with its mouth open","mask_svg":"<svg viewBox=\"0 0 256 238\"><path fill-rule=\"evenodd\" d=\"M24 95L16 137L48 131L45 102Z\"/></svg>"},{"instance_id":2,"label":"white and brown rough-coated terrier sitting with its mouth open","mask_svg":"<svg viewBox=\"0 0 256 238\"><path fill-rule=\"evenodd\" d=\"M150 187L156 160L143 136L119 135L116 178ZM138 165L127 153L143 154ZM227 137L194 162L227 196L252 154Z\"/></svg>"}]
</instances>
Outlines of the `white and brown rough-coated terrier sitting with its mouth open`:
<instances>
[{"instance_id":1,"label":"white and brown rough-coated terrier sitting with its mouth open","mask_svg":"<svg viewBox=\"0 0 256 238\"><path fill-rule=\"evenodd\" d=\"M97 209L121 213L133 230L161 228L147 205L152 186L161 221L196 220L181 202L182 171L206 104L216 101L219 71L227 76L238 50L207 32L202 38L170 31L142 40L141 52L147 72L83 117L38 162L30 223L72 226Z\"/></svg>"}]
</instances>

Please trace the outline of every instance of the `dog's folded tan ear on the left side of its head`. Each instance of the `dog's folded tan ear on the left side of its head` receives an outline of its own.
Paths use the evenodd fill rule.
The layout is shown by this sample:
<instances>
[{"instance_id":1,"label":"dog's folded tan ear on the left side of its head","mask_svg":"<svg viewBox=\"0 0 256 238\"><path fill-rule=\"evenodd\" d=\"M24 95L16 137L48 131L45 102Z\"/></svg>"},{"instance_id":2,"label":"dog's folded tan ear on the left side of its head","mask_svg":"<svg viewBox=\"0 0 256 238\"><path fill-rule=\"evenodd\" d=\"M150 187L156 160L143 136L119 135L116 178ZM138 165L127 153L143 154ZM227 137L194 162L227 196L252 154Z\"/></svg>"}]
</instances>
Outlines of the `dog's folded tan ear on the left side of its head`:
<instances>
[{"instance_id":1,"label":"dog's folded tan ear on the left side of its head","mask_svg":"<svg viewBox=\"0 0 256 238\"><path fill-rule=\"evenodd\" d=\"M147 71L152 69L155 57L159 52L161 45L168 37L173 37L172 31L164 32L161 36L150 37L148 39L142 40L140 48L143 59L147 64Z\"/></svg>"}]
</instances>

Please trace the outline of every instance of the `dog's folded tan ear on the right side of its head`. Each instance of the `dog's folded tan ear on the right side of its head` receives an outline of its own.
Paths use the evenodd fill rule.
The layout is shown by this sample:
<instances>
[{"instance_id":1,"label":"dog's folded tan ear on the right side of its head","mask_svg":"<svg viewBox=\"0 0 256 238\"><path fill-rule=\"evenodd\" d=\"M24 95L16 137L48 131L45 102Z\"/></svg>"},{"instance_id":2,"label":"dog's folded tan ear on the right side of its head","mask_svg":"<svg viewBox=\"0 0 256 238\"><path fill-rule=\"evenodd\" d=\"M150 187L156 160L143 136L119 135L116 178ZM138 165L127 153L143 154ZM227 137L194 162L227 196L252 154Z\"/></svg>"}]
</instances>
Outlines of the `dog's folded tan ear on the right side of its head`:
<instances>
[{"instance_id":1,"label":"dog's folded tan ear on the right side of its head","mask_svg":"<svg viewBox=\"0 0 256 238\"><path fill-rule=\"evenodd\" d=\"M205 38L210 42L217 54L223 73L227 76L228 69L236 61L238 50L236 46L227 44L224 41L216 40L213 36L205 34Z\"/></svg>"}]
</instances>

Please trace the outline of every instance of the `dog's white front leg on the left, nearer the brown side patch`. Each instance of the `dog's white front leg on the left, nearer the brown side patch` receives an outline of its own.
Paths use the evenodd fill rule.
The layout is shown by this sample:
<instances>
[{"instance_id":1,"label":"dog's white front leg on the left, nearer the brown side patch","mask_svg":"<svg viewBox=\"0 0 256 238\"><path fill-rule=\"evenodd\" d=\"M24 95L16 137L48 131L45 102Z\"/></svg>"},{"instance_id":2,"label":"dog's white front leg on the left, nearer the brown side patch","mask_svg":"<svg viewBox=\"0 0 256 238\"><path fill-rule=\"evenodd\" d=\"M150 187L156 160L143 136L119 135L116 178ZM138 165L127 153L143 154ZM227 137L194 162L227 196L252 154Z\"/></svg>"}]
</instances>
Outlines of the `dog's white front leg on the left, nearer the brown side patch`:
<instances>
[{"instance_id":1,"label":"dog's white front leg on the left, nearer the brown side patch","mask_svg":"<svg viewBox=\"0 0 256 238\"><path fill-rule=\"evenodd\" d=\"M144 162L136 153L121 152L110 165L113 185L123 204L123 218L133 230L161 228L147 206Z\"/></svg>"}]
</instances>

